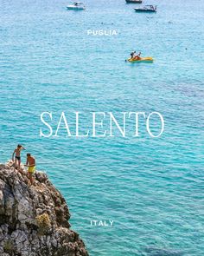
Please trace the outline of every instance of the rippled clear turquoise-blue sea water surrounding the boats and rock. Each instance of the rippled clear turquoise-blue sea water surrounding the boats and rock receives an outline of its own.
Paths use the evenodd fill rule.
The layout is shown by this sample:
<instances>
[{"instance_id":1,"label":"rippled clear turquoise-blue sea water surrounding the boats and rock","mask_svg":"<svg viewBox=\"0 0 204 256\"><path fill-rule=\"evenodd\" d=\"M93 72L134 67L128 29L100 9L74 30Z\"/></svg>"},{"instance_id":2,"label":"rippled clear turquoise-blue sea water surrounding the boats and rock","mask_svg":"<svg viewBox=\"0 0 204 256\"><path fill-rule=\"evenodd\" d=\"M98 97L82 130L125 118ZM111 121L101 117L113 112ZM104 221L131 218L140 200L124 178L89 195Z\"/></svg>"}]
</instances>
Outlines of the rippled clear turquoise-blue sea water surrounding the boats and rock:
<instances>
[{"instance_id":1,"label":"rippled clear turquoise-blue sea water surrounding the boats and rock","mask_svg":"<svg viewBox=\"0 0 204 256\"><path fill-rule=\"evenodd\" d=\"M19 142L35 155L92 256L204 254L204 5L146 3L158 12L137 14L124 0L86 1L83 12L64 0L0 1L0 161ZM124 62L133 49L156 62ZM165 132L46 139L43 111L54 124L61 111L159 111Z\"/></svg>"}]
</instances>

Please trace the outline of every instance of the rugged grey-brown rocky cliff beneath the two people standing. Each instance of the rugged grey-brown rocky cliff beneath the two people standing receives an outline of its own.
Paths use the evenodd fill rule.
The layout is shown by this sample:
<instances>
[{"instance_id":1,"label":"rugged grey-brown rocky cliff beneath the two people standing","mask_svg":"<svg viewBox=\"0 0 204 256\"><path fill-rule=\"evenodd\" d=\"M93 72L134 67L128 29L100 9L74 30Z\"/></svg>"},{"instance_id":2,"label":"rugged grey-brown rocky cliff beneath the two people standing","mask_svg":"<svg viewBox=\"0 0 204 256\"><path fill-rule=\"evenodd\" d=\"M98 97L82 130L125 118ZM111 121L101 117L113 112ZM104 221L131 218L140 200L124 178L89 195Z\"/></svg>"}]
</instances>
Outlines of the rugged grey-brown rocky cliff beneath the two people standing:
<instances>
[{"instance_id":1,"label":"rugged grey-brown rocky cliff beneath the two people standing","mask_svg":"<svg viewBox=\"0 0 204 256\"><path fill-rule=\"evenodd\" d=\"M0 255L87 256L79 235L70 229L65 199L41 172L29 186L11 163L0 165Z\"/></svg>"}]
</instances>

